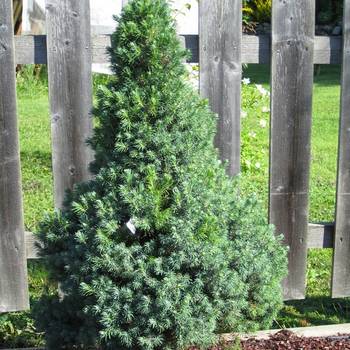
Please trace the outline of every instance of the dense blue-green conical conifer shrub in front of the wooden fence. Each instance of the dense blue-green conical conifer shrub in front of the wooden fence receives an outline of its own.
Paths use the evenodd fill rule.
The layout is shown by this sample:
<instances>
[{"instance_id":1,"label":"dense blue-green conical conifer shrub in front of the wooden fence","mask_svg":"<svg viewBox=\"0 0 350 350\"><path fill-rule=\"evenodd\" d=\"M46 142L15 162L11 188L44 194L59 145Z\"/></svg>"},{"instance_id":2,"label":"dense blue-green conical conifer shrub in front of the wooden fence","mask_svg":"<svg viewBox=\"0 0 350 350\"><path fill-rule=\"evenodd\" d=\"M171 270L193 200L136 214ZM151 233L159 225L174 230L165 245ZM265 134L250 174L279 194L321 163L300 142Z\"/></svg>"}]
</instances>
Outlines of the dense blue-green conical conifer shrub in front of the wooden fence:
<instances>
[{"instance_id":1,"label":"dense blue-green conical conifer shrub in front of the wooden fence","mask_svg":"<svg viewBox=\"0 0 350 350\"><path fill-rule=\"evenodd\" d=\"M117 19L98 93L94 179L40 225L64 297L36 307L49 349L206 348L268 327L286 254L213 146L216 117L186 80L166 0Z\"/></svg>"}]
</instances>

